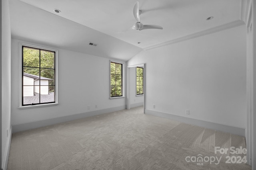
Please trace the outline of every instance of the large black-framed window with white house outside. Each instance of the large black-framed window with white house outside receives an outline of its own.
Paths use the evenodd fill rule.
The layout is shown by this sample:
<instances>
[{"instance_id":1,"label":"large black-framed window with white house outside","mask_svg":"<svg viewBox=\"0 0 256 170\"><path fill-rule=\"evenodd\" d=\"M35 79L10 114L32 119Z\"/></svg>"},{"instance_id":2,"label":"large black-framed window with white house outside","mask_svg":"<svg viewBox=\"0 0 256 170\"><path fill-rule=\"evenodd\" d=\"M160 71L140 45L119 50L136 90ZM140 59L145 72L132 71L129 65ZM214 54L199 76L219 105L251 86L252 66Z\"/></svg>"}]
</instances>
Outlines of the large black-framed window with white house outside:
<instances>
[{"instance_id":1,"label":"large black-framed window with white house outside","mask_svg":"<svg viewBox=\"0 0 256 170\"><path fill-rule=\"evenodd\" d=\"M22 106L56 102L56 51L22 46Z\"/></svg>"}]
</instances>

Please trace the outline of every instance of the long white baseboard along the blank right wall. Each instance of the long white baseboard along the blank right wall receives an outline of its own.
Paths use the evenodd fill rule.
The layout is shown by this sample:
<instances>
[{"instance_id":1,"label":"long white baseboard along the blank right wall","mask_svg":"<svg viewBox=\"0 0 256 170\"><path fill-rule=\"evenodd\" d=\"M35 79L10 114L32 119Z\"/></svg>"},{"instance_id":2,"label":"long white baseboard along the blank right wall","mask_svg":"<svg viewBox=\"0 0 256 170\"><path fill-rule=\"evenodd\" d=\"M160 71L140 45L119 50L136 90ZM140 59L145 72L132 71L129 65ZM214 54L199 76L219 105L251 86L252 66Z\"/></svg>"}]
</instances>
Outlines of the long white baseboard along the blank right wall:
<instances>
[{"instance_id":1,"label":"long white baseboard along the blank right wall","mask_svg":"<svg viewBox=\"0 0 256 170\"><path fill-rule=\"evenodd\" d=\"M235 126L230 126L230 125L224 125L220 123L214 123L214 122L209 122L209 121L203 121L203 120L198 120L198 119L192 119L189 117L183 117L183 116L178 116L178 115L172 115L170 113L162 113L159 111L154 111L150 109L145 109L146 114L158 116L158 117L164 117L167 119L172 119L175 121L180 121L182 123L187 123L187 124L192 124L192 125L197 125L200 127L205 127L208 129L214 129L217 131L223 131L227 133L232 133L235 135L240 135L245 137L245 128L242 127L235 127Z\"/></svg>"}]
</instances>

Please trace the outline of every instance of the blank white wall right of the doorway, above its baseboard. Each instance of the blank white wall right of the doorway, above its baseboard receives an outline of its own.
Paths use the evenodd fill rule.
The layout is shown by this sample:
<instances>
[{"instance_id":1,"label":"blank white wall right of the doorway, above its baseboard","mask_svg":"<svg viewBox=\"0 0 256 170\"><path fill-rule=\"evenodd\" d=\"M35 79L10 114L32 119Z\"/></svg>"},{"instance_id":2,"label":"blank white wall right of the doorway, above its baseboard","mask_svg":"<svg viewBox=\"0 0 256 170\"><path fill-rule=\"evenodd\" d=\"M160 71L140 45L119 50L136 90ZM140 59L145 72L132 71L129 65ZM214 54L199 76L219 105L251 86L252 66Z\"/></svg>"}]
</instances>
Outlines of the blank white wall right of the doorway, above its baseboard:
<instances>
[{"instance_id":1,"label":"blank white wall right of the doorway, above its baseboard","mask_svg":"<svg viewBox=\"0 0 256 170\"><path fill-rule=\"evenodd\" d=\"M146 109L246 128L245 25L142 51L127 62L140 63L147 64Z\"/></svg>"}]
</instances>

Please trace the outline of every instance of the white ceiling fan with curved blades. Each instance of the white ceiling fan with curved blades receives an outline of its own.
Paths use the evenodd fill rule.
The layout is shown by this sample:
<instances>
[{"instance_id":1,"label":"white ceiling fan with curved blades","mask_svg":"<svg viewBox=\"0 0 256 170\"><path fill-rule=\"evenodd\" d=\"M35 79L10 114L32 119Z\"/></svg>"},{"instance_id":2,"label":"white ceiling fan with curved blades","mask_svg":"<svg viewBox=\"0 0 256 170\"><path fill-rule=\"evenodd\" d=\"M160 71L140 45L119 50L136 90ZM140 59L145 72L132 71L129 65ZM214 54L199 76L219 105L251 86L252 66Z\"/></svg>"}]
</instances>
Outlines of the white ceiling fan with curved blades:
<instances>
[{"instance_id":1,"label":"white ceiling fan with curved blades","mask_svg":"<svg viewBox=\"0 0 256 170\"><path fill-rule=\"evenodd\" d=\"M134 30L163 29L163 27L159 25L143 25L143 23L140 22L140 13L141 13L141 10L139 10L139 2L136 2L133 8L133 15L137 22L132 26L132 29Z\"/></svg>"}]
</instances>

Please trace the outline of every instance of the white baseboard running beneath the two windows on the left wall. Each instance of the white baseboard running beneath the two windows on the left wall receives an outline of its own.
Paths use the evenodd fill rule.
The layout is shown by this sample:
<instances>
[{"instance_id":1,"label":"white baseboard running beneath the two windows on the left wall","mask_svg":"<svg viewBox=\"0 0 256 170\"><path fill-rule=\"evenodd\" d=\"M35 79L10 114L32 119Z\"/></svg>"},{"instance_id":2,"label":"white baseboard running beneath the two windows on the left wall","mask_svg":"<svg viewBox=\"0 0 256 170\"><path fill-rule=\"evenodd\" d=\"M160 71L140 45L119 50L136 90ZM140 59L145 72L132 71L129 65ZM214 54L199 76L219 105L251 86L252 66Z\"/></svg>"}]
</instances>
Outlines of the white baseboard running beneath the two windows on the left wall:
<instances>
[{"instance_id":1,"label":"white baseboard running beneath the two windows on the left wall","mask_svg":"<svg viewBox=\"0 0 256 170\"><path fill-rule=\"evenodd\" d=\"M62 117L55 117L52 119L44 119L40 121L33 121L33 122L28 122L28 123L22 123L22 124L16 124L12 125L12 133L20 132L20 131L26 131L29 129L35 129L38 127L44 127L48 125L54 125L57 123L62 123L66 121L72 121L76 119L81 119L85 117L90 117L94 115L101 115L105 113L111 113L114 111L119 111L125 109L126 106L119 106L119 107L113 107L113 108L108 108L108 109L101 109L101 110L96 110L96 111L90 111L86 113L78 113L74 115L68 115L68 116L62 116Z\"/></svg>"}]
</instances>

